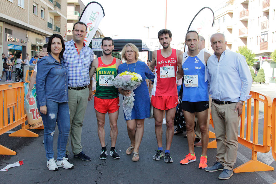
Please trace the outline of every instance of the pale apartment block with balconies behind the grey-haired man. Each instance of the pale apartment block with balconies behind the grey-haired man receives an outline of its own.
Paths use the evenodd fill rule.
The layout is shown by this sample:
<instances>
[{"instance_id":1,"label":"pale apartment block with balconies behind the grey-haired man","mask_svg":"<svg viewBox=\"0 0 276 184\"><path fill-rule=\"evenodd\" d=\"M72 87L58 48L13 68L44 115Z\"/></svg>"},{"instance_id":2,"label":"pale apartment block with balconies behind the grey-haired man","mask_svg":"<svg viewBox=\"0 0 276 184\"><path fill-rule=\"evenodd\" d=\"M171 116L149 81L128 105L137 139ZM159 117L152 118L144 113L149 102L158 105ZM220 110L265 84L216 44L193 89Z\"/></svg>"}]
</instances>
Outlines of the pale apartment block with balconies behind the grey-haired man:
<instances>
[{"instance_id":1,"label":"pale apartment block with balconies behind the grey-haired man","mask_svg":"<svg viewBox=\"0 0 276 184\"><path fill-rule=\"evenodd\" d=\"M276 63L270 54L276 49L276 1L274 0L231 0L215 11L215 25L212 33L224 33L227 48L236 52L240 46L247 46L255 53L253 69L264 69L266 83L274 82ZM206 45L212 51L210 36Z\"/></svg>"}]
</instances>

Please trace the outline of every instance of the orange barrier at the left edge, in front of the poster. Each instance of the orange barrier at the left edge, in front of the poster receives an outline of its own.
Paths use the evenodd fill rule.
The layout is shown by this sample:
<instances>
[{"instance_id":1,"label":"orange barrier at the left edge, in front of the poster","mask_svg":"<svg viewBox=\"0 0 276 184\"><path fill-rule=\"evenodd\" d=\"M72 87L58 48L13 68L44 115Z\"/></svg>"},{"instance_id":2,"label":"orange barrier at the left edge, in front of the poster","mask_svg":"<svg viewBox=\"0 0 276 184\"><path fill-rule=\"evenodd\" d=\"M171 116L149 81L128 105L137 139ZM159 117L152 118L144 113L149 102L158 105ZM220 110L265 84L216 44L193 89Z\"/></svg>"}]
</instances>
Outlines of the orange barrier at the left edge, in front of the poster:
<instances>
[{"instance_id":1,"label":"orange barrier at the left edge, in front of the poster","mask_svg":"<svg viewBox=\"0 0 276 184\"><path fill-rule=\"evenodd\" d=\"M27 117L24 111L23 88L23 82L0 85L0 135L21 125L20 130L9 136L38 137L38 134L25 128ZM16 152L0 145L0 155L16 155Z\"/></svg>"}]
</instances>

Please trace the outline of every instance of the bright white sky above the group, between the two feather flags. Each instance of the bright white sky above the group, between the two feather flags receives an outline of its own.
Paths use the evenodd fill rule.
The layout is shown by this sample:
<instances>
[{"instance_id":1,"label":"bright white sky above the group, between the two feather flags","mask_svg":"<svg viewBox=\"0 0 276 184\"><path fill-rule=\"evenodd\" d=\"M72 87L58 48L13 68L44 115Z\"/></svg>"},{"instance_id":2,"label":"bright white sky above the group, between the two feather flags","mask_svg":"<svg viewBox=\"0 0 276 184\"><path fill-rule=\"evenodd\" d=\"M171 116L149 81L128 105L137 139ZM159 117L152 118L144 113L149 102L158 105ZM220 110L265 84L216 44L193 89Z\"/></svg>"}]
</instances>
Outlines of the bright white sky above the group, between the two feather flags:
<instances>
[{"instance_id":1,"label":"bright white sky above the group, between the two feather flags","mask_svg":"<svg viewBox=\"0 0 276 184\"><path fill-rule=\"evenodd\" d=\"M82 0L87 5L90 0ZM113 39L157 38L165 28L166 0L96 0L105 11L99 29ZM219 2L219 3L217 3ZM208 6L213 11L224 1L217 0L167 0L167 29L172 32L172 44L185 40L185 33L196 13ZM144 28L144 26L153 26ZM118 35L118 36L115 36Z\"/></svg>"}]
</instances>

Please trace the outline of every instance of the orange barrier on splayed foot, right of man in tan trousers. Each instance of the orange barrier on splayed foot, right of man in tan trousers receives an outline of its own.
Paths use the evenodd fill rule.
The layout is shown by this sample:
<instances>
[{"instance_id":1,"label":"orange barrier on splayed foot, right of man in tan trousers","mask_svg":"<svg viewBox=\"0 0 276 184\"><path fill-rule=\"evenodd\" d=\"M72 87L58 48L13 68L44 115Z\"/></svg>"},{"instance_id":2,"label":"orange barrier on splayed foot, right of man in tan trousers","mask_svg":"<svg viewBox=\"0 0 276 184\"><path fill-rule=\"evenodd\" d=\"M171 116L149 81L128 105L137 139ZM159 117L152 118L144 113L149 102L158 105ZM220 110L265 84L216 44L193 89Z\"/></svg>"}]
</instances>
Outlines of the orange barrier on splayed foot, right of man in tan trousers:
<instances>
[{"instance_id":1,"label":"orange barrier on splayed foot, right of man in tan trousers","mask_svg":"<svg viewBox=\"0 0 276 184\"><path fill-rule=\"evenodd\" d=\"M240 135L238 141L245 147L252 149L251 160L243 165L235 168L233 171L237 172L254 172L254 171L274 171L274 168L257 160L257 153L267 153L271 146L271 99L269 96L261 93L251 91L252 97L247 100L247 124L245 129L245 108L241 115L240 121ZM260 98L260 96L262 98ZM254 99L253 109L253 139L251 140L251 100ZM259 102L264 103L264 119L263 119L263 144L258 144L258 130L259 130ZM274 133L275 135L275 133Z\"/></svg>"}]
</instances>

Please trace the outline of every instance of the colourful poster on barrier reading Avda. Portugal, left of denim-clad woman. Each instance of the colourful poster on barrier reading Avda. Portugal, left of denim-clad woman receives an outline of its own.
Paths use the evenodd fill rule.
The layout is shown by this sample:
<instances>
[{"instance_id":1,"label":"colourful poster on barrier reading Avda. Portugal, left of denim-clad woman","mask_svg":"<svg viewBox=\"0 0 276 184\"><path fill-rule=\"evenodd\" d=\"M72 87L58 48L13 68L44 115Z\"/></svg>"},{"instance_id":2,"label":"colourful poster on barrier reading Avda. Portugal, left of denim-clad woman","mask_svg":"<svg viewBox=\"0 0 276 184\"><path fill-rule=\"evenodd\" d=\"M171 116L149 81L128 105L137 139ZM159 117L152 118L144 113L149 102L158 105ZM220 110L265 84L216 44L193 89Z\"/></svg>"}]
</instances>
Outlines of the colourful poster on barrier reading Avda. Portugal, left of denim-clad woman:
<instances>
[{"instance_id":1,"label":"colourful poster on barrier reading Avda. Portugal, left of denim-clad woman","mask_svg":"<svg viewBox=\"0 0 276 184\"><path fill-rule=\"evenodd\" d=\"M29 83L24 82L24 93L25 95L28 93ZM36 85L34 84L33 89L31 91L30 99L27 100L25 97L25 108L27 114L27 120L29 129L34 129L43 125L42 118L38 113L38 109L36 107Z\"/></svg>"}]
</instances>

